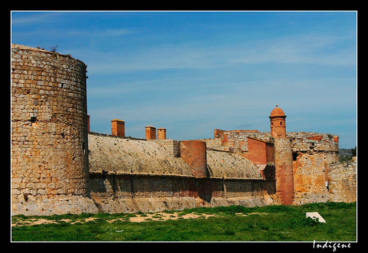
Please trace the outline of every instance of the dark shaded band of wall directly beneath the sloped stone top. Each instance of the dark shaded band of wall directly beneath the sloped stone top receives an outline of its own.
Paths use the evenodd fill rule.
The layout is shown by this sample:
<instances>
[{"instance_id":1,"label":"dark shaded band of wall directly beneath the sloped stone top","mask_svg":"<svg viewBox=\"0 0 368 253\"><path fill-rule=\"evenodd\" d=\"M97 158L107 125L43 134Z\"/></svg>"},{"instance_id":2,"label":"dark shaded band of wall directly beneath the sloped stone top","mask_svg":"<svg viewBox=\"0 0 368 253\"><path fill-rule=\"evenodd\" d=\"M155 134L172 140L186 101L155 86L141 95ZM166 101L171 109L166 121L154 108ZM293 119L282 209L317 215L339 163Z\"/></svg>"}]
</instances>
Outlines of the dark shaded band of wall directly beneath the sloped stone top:
<instances>
[{"instance_id":1,"label":"dark shaded band of wall directly beneath the sloped stone top","mask_svg":"<svg viewBox=\"0 0 368 253\"><path fill-rule=\"evenodd\" d=\"M272 168L270 169L272 170ZM91 196L119 198L193 197L210 203L214 197L275 194L275 181L170 176L91 174Z\"/></svg>"}]
</instances>

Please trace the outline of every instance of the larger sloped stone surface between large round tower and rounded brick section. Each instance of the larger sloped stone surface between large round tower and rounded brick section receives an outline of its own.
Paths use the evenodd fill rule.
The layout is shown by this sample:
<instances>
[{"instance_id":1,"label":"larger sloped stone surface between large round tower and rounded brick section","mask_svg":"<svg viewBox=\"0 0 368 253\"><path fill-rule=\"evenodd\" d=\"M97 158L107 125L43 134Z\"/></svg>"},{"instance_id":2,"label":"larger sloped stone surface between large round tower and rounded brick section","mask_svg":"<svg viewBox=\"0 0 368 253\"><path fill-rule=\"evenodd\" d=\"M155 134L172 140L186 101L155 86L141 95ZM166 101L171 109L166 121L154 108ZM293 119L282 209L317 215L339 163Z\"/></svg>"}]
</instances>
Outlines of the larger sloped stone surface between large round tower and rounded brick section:
<instances>
[{"instance_id":1,"label":"larger sloped stone surface between large round tower and rounded brick section","mask_svg":"<svg viewBox=\"0 0 368 253\"><path fill-rule=\"evenodd\" d=\"M115 174L168 174L192 176L181 158L156 141L134 140L102 134L88 134L91 172Z\"/></svg>"}]
</instances>

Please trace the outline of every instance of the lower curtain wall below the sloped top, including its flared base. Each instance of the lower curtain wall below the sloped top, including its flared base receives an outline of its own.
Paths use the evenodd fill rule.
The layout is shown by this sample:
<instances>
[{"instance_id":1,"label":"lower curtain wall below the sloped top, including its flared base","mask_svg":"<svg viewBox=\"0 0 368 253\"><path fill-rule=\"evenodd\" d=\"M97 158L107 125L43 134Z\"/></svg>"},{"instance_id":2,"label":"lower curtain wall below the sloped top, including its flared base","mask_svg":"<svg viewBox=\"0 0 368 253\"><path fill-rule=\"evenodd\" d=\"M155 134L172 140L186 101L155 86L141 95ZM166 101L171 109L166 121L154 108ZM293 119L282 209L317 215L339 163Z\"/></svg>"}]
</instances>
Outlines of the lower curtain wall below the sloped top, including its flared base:
<instances>
[{"instance_id":1,"label":"lower curtain wall below the sloped top, including its flared base","mask_svg":"<svg viewBox=\"0 0 368 253\"><path fill-rule=\"evenodd\" d=\"M204 179L166 175L91 173L91 198L101 212L162 211L196 207L278 204L263 179Z\"/></svg>"}]
</instances>

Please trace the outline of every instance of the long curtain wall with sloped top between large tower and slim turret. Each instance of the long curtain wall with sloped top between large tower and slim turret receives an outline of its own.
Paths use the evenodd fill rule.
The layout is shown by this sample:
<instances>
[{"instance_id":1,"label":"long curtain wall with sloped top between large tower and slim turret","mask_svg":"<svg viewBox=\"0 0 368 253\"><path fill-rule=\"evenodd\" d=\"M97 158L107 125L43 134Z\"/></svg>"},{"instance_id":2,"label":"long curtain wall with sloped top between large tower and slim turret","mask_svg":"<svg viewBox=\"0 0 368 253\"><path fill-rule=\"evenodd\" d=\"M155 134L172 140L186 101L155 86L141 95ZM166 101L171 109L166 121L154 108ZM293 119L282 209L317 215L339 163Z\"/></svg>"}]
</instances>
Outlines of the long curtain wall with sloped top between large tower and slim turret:
<instances>
[{"instance_id":1,"label":"long curtain wall with sloped top between large tower and slim turret","mask_svg":"<svg viewBox=\"0 0 368 253\"><path fill-rule=\"evenodd\" d=\"M179 144L187 150L178 150ZM275 180L264 179L244 157L206 149L202 141L147 141L89 133L89 147L91 198L100 211L278 203ZM180 157L174 157L173 150L180 151ZM198 161L193 156L193 165L184 162L183 154L186 158L201 155ZM193 170L196 161L200 168L208 169L205 177Z\"/></svg>"}]
</instances>

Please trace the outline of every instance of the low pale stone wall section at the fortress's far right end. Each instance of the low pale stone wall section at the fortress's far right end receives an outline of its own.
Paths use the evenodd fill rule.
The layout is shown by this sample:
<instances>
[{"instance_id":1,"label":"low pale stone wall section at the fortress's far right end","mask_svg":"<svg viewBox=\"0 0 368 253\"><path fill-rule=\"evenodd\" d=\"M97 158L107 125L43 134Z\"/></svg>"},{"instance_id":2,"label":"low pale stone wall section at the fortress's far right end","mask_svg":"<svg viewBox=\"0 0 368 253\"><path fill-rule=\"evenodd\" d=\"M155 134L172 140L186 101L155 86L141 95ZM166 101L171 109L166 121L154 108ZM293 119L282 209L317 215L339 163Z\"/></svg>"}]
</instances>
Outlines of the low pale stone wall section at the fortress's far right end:
<instances>
[{"instance_id":1,"label":"low pale stone wall section at the fortress's far right end","mask_svg":"<svg viewBox=\"0 0 368 253\"><path fill-rule=\"evenodd\" d=\"M329 201L355 202L357 195L356 162L334 163L327 166Z\"/></svg>"}]
</instances>

